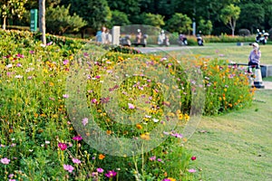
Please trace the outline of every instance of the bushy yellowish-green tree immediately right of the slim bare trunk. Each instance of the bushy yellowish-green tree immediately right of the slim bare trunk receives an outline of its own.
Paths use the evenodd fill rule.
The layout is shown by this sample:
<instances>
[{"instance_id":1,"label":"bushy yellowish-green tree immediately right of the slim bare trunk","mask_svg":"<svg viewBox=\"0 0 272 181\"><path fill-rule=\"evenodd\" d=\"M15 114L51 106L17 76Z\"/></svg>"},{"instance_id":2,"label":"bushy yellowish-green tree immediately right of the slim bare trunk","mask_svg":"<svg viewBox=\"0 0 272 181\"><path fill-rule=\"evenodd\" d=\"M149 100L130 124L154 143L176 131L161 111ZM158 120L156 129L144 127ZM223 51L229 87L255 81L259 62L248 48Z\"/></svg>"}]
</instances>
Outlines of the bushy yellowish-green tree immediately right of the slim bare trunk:
<instances>
[{"instance_id":1,"label":"bushy yellowish-green tree immediately right of the slim bare trunk","mask_svg":"<svg viewBox=\"0 0 272 181\"><path fill-rule=\"evenodd\" d=\"M69 8L63 6L49 7L46 11L47 32L63 34L67 31L78 32L87 23L77 14L70 15Z\"/></svg>"}]
</instances>

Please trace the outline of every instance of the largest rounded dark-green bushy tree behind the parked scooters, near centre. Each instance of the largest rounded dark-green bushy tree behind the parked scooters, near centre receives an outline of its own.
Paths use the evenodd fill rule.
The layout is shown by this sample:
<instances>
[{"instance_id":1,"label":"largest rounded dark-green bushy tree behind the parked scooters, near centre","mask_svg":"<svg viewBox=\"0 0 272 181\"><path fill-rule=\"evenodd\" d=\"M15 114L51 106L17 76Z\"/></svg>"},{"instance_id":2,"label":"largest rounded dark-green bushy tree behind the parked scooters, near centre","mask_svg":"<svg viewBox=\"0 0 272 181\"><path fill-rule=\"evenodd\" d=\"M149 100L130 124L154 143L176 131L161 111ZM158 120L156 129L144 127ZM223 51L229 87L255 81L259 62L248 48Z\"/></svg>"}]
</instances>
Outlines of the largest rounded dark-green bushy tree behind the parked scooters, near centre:
<instances>
[{"instance_id":1,"label":"largest rounded dark-green bushy tree behind the parked scooters, near centre","mask_svg":"<svg viewBox=\"0 0 272 181\"><path fill-rule=\"evenodd\" d=\"M186 14L174 14L166 23L166 29L171 32L190 33L192 21Z\"/></svg>"}]
</instances>

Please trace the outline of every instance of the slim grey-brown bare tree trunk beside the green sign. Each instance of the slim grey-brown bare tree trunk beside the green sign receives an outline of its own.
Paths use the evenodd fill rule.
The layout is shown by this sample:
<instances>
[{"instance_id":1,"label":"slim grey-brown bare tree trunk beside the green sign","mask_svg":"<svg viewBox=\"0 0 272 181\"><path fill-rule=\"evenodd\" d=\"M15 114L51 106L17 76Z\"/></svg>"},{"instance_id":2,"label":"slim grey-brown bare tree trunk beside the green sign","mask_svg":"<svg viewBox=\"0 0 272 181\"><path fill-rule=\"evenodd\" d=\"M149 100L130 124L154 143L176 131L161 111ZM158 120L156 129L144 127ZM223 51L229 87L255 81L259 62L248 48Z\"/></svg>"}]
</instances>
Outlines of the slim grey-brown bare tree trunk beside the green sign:
<instances>
[{"instance_id":1,"label":"slim grey-brown bare tree trunk beside the green sign","mask_svg":"<svg viewBox=\"0 0 272 181\"><path fill-rule=\"evenodd\" d=\"M45 0L39 0L39 29L42 33L42 43L46 44L45 38Z\"/></svg>"}]
</instances>

